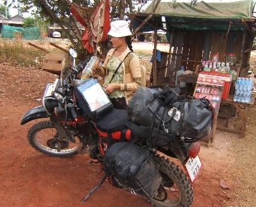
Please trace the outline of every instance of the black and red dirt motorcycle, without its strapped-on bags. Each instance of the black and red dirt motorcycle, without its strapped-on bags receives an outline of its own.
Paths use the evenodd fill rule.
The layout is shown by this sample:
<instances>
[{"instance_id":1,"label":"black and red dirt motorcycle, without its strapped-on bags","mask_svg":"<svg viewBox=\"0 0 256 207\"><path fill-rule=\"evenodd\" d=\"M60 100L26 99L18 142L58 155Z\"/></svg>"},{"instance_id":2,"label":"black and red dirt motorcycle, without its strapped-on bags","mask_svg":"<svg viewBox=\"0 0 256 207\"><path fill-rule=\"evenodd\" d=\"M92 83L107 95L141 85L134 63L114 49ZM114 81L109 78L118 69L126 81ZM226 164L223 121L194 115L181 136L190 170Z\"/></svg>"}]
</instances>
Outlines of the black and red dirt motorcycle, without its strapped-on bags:
<instances>
[{"instance_id":1,"label":"black and red dirt motorcycle, without its strapped-on bags","mask_svg":"<svg viewBox=\"0 0 256 207\"><path fill-rule=\"evenodd\" d=\"M26 112L20 124L26 124L38 118L49 118L50 120L40 121L29 129L28 141L32 147L56 157L70 157L86 150L92 159L103 162L110 145L119 141L129 141L131 130L125 125L128 115L125 110L113 109L118 114L115 116L115 123L118 126L106 129L103 123L111 123L113 112L104 114L98 121L92 120L83 112L81 109L83 103L74 93L74 87L83 83L83 80L77 79L77 74L83 70L86 62L76 66L76 51L70 48L69 53L73 58L73 65L62 70L54 84L47 85L43 105ZM122 136L121 130L124 128L125 135ZM147 147L146 142L140 142L140 145ZM150 199L147 197L152 205L191 205L192 182L198 176L202 166L198 156L199 151L198 142L185 144L176 139L171 145L152 151L154 165L164 179L164 184L160 185L157 193ZM185 172L176 163L170 162L167 159L168 156L178 159Z\"/></svg>"}]
</instances>

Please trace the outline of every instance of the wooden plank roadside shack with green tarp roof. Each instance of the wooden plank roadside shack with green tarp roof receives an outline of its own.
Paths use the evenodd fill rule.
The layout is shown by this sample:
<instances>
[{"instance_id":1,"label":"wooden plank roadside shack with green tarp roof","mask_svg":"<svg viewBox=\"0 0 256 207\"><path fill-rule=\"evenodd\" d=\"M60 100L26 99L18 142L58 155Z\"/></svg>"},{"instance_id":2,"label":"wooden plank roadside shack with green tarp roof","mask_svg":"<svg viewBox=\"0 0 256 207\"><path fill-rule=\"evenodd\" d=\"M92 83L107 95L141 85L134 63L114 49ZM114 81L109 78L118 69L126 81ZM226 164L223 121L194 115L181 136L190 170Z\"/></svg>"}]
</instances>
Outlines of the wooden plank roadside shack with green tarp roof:
<instances>
[{"instance_id":1,"label":"wooden plank roadside shack with green tarp roof","mask_svg":"<svg viewBox=\"0 0 256 207\"><path fill-rule=\"evenodd\" d=\"M228 53L236 54L237 76L246 77L254 37L255 22L253 0L206 3L196 6L179 2L153 1L143 13L132 14L135 32L165 30L169 36L169 53L161 53L156 60L153 50L153 66L150 82L153 85L173 85L176 71L181 66L193 71L203 60L212 60L218 53L219 62L225 62ZM163 18L164 17L164 18ZM164 20L165 19L165 20ZM167 36L167 37L168 37ZM198 68L197 68L198 69ZM194 83L197 76L183 76L182 81Z\"/></svg>"}]
</instances>

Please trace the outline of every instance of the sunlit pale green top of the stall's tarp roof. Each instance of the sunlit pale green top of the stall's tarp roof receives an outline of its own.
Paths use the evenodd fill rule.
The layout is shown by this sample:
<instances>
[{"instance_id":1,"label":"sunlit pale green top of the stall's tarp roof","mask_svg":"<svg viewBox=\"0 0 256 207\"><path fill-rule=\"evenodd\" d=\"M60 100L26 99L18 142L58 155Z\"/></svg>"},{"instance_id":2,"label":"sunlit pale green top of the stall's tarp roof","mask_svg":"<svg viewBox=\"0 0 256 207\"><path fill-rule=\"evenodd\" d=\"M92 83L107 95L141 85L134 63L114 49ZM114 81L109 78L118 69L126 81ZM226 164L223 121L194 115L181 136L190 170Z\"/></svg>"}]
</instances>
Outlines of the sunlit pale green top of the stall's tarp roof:
<instances>
[{"instance_id":1,"label":"sunlit pale green top of the stall's tarp roof","mask_svg":"<svg viewBox=\"0 0 256 207\"><path fill-rule=\"evenodd\" d=\"M196 6L187 2L177 2L177 8L173 8L172 2L160 2L155 14L161 16L194 17L205 19L249 19L252 18L255 0L206 3L198 2ZM152 13L155 2L146 8L144 13Z\"/></svg>"}]
</instances>

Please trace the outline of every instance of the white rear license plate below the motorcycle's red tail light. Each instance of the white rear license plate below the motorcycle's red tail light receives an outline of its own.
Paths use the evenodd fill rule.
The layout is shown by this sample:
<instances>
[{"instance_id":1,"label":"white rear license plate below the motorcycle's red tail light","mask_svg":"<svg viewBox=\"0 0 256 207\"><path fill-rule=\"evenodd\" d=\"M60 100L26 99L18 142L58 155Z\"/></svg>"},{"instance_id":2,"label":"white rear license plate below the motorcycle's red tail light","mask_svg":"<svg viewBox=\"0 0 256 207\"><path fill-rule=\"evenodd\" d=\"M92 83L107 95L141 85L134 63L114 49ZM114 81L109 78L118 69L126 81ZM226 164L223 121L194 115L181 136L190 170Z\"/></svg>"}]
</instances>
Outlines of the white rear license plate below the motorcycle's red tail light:
<instances>
[{"instance_id":1,"label":"white rear license plate below the motorcycle's red tail light","mask_svg":"<svg viewBox=\"0 0 256 207\"><path fill-rule=\"evenodd\" d=\"M202 163L199 156L195 158L189 157L188 161L185 164L185 169L186 169L186 172L188 173L188 176L191 182L194 182L195 178L200 172L201 167L202 167Z\"/></svg>"}]
</instances>

